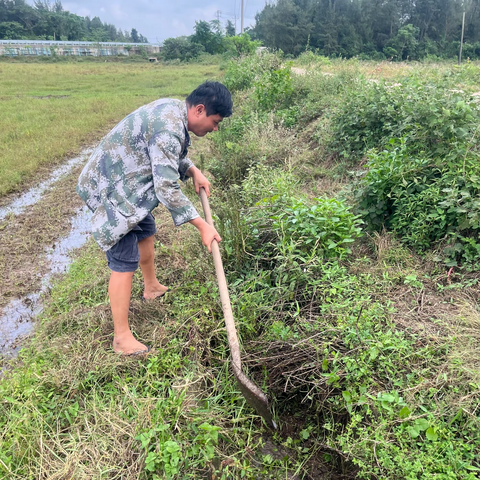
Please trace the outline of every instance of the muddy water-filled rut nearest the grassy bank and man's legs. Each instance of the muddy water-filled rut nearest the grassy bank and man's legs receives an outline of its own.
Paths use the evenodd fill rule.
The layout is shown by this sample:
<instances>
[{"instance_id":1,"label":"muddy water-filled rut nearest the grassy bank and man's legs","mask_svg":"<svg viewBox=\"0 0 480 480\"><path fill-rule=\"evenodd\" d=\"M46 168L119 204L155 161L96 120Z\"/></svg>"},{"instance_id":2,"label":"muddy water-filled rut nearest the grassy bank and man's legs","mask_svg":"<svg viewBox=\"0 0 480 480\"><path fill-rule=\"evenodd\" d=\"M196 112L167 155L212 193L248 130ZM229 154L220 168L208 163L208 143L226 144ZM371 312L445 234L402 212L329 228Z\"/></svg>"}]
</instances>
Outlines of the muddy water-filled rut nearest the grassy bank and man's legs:
<instances>
[{"instance_id":1,"label":"muddy water-filled rut nearest the grassy bank and man's legs","mask_svg":"<svg viewBox=\"0 0 480 480\"><path fill-rule=\"evenodd\" d=\"M46 250L50 271L44 275L39 292L21 299L14 299L4 309L0 317L0 354L14 356L21 348L22 340L35 326L35 317L43 310L42 294L50 287L52 276L66 272L72 262L70 253L80 248L90 234L92 213L87 207L77 211L71 220L71 231L60 238L53 248Z\"/></svg>"}]
</instances>

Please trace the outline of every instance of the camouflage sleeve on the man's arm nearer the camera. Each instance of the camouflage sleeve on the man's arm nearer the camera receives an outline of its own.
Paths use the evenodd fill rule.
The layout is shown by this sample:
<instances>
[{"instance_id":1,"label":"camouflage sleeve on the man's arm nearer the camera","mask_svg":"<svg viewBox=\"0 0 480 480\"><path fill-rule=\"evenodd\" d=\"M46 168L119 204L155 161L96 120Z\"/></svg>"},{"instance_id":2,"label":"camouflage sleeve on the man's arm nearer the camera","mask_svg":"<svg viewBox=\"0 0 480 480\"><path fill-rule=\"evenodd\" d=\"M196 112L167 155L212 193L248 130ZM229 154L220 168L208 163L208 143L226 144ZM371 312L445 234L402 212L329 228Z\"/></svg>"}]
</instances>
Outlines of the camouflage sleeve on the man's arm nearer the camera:
<instances>
[{"instance_id":1,"label":"camouflage sleeve on the man's arm nearer the camera","mask_svg":"<svg viewBox=\"0 0 480 480\"><path fill-rule=\"evenodd\" d=\"M180 160L181 152L179 138L167 131L157 132L148 144L155 194L159 202L169 210L176 226L199 217L178 184L178 180L185 178L186 171L193 165L188 159Z\"/></svg>"}]
</instances>

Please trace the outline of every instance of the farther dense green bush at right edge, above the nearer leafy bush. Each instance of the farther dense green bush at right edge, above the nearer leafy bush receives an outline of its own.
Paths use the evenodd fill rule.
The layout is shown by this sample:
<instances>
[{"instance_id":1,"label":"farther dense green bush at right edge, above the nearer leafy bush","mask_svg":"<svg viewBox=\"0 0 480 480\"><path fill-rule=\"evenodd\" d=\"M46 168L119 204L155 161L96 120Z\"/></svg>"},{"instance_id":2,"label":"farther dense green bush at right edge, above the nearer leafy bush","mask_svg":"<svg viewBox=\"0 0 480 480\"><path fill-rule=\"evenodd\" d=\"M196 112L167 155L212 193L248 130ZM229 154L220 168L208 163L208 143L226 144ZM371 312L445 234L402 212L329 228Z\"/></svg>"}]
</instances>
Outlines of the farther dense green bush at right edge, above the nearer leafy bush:
<instances>
[{"instance_id":1,"label":"farther dense green bush at right edge, above the nearer leafy bush","mask_svg":"<svg viewBox=\"0 0 480 480\"><path fill-rule=\"evenodd\" d=\"M330 144L345 157L401 137L416 151L445 155L456 142L470 140L480 120L475 103L447 84L360 83L346 98L332 118Z\"/></svg>"}]
</instances>

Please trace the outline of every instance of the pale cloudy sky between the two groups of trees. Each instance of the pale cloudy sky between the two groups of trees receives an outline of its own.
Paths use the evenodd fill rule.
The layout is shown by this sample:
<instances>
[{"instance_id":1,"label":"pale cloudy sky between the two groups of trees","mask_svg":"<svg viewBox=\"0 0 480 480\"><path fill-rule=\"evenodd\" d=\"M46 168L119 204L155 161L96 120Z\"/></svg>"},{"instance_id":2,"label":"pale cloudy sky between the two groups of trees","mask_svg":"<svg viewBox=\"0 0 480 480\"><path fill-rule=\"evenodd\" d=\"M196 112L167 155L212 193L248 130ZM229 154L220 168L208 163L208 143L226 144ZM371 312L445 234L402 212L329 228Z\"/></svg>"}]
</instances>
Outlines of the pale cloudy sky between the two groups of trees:
<instances>
[{"instance_id":1,"label":"pale cloudy sky between the two groups of trees","mask_svg":"<svg viewBox=\"0 0 480 480\"><path fill-rule=\"evenodd\" d=\"M255 14L263 9L265 2L244 0L245 27L255 24ZM241 0L62 0L62 5L71 13L100 17L102 22L122 30L136 28L151 43L191 35L195 20L214 20L217 12L224 25L227 20L235 23L236 14L237 32L240 32Z\"/></svg>"}]
</instances>

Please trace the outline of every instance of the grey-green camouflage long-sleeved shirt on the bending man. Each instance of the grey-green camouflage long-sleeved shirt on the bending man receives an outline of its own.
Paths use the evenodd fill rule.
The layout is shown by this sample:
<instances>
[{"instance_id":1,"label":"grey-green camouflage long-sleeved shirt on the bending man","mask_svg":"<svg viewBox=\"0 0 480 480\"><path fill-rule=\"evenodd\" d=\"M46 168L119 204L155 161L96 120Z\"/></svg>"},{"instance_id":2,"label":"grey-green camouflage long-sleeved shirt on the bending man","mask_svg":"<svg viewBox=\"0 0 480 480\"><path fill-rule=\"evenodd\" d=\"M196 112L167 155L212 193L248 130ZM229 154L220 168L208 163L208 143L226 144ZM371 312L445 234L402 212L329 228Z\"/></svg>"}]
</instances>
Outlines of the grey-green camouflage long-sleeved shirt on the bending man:
<instances>
[{"instance_id":1,"label":"grey-green camouflage long-sleeved shirt on the bending man","mask_svg":"<svg viewBox=\"0 0 480 480\"><path fill-rule=\"evenodd\" d=\"M94 212L93 237L113 247L161 202L175 225L199 215L182 193L193 163L184 101L156 100L124 118L89 158L77 192Z\"/></svg>"}]
</instances>

